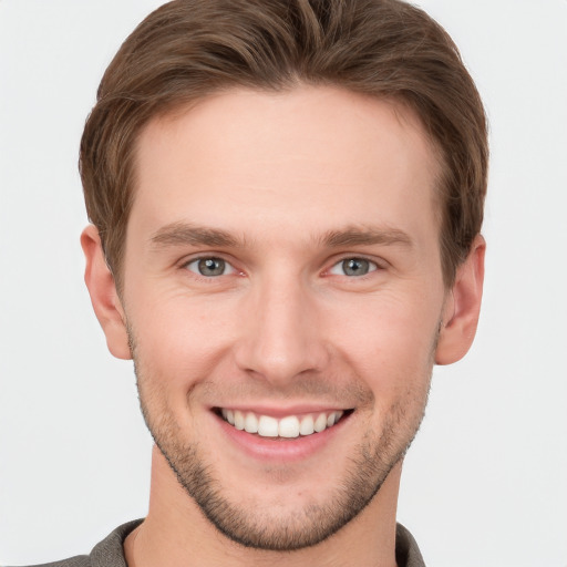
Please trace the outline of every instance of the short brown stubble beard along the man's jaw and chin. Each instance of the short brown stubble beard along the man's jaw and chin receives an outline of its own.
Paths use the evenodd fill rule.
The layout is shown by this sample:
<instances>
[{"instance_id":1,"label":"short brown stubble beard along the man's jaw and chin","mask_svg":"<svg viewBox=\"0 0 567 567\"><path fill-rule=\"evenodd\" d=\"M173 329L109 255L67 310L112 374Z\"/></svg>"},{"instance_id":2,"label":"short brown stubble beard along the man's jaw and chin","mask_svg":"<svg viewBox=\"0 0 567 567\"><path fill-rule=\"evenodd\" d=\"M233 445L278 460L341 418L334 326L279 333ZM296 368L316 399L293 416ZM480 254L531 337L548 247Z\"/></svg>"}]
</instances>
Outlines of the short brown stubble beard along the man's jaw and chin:
<instances>
[{"instance_id":1,"label":"short brown stubble beard along the man's jaw and chin","mask_svg":"<svg viewBox=\"0 0 567 567\"><path fill-rule=\"evenodd\" d=\"M336 534L357 517L373 499L391 470L403 458L425 413L431 372L421 396L420 411L410 411L415 392L390 409L381 434L367 432L355 446L343 478L324 503L307 502L288 513L258 512L254 505L239 506L225 494L213 463L207 463L198 442L184 442L184 435L167 408L150 409L133 336L130 333L140 403L146 425L179 484L195 501L205 517L226 537L248 548L293 551L315 546ZM408 414L413 414L408 423Z\"/></svg>"}]
</instances>

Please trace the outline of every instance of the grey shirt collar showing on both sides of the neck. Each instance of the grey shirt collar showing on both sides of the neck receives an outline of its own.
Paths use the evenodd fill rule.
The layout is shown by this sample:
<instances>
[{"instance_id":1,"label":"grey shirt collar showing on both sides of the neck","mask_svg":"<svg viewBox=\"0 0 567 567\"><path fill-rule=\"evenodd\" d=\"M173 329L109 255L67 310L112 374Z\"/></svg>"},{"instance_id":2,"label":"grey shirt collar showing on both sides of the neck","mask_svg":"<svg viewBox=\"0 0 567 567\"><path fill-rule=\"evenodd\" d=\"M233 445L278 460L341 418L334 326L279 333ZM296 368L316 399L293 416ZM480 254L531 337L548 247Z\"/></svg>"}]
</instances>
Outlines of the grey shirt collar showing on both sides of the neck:
<instances>
[{"instance_id":1,"label":"grey shirt collar showing on both sides of the neck","mask_svg":"<svg viewBox=\"0 0 567 567\"><path fill-rule=\"evenodd\" d=\"M117 527L93 547L91 555L78 555L37 567L127 567L124 558L124 539L142 522L136 519ZM398 567L425 567L415 539L401 524L398 524L395 533L395 560Z\"/></svg>"}]
</instances>

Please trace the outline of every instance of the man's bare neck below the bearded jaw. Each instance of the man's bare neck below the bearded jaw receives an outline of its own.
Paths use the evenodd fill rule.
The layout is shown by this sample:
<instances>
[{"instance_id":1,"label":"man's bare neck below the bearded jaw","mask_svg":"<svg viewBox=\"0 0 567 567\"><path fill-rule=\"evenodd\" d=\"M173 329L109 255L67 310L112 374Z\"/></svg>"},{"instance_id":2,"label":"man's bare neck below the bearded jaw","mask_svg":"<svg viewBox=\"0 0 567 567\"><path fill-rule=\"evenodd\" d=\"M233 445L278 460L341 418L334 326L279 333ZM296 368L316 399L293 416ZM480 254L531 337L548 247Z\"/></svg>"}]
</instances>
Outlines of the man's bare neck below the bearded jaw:
<instances>
[{"instance_id":1,"label":"man's bare neck below the bearded jaw","mask_svg":"<svg viewBox=\"0 0 567 567\"><path fill-rule=\"evenodd\" d=\"M395 512L401 463L372 502L349 524L320 544L296 551L266 551L234 543L203 515L154 447L150 511L128 535L128 567L286 567L372 565L395 567Z\"/></svg>"}]
</instances>

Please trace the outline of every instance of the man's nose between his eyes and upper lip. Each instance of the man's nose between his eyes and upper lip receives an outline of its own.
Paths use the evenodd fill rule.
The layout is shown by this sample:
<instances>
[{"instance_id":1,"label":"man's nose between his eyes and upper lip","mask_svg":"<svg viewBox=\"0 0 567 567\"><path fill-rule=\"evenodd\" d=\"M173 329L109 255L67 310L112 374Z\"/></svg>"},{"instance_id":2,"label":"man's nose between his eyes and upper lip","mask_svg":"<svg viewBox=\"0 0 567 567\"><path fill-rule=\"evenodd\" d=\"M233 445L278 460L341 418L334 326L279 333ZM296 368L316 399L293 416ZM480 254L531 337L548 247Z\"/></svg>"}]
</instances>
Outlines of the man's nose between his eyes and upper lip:
<instances>
[{"instance_id":1,"label":"man's nose between his eyes and upper lip","mask_svg":"<svg viewBox=\"0 0 567 567\"><path fill-rule=\"evenodd\" d=\"M266 281L243 302L236 362L241 370L275 386L308 372L320 372L329 358L320 323L317 301L308 286L291 278Z\"/></svg>"}]
</instances>

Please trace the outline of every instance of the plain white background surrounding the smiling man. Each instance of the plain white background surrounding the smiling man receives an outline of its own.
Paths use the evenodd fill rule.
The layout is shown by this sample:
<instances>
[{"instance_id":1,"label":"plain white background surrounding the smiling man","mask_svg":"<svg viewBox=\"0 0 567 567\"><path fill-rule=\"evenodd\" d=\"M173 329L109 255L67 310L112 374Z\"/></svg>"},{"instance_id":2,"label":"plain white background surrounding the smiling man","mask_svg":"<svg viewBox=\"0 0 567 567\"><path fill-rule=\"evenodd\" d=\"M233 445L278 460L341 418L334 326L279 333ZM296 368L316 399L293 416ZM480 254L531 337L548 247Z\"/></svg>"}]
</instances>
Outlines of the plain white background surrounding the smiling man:
<instances>
[{"instance_id":1,"label":"plain white background surrounding the smiling man","mask_svg":"<svg viewBox=\"0 0 567 567\"><path fill-rule=\"evenodd\" d=\"M150 436L82 282L83 121L156 0L0 0L0 564L145 514ZM423 0L492 124L484 311L436 369L399 519L431 566L567 566L567 1Z\"/></svg>"}]
</instances>

